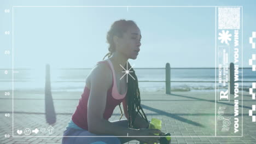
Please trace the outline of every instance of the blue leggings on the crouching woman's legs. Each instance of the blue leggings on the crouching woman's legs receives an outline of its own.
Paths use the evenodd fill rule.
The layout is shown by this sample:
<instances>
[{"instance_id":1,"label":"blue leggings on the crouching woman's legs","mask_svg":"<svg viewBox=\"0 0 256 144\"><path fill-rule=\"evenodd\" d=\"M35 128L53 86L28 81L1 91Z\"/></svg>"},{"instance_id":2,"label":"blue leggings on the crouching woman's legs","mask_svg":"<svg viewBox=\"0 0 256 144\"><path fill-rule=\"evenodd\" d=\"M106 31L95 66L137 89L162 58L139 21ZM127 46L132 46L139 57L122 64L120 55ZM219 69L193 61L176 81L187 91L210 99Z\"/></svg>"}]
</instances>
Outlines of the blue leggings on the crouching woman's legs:
<instances>
[{"instance_id":1,"label":"blue leggings on the crouching woman's legs","mask_svg":"<svg viewBox=\"0 0 256 144\"><path fill-rule=\"evenodd\" d=\"M128 127L127 119L121 119L121 121L113 121L112 123L118 124L121 127ZM88 130L79 130L74 128L68 128L63 132L63 136L97 136L90 133ZM111 136L111 135L101 135ZM62 144L121 144L129 142L132 137L62 137Z\"/></svg>"}]
</instances>

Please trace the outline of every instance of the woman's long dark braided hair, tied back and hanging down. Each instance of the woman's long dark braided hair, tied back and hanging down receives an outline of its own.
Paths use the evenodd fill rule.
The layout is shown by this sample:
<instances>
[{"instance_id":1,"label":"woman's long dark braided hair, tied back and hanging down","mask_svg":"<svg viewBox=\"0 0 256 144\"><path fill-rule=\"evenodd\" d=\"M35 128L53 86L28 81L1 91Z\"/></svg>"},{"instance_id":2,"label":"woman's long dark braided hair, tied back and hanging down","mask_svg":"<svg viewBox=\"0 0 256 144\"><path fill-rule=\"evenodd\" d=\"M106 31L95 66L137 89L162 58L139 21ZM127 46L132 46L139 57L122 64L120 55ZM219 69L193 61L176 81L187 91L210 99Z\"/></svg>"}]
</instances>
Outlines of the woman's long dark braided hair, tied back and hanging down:
<instances>
[{"instance_id":1,"label":"woman's long dark braided hair, tied back and hanging down","mask_svg":"<svg viewBox=\"0 0 256 144\"><path fill-rule=\"evenodd\" d=\"M134 21L131 20L119 20L119 21L115 21L112 26L110 27L108 33L107 33L107 43L109 44L108 47L108 53L105 57L108 56L108 58L110 56L112 56L113 52L115 52L115 44L113 42L113 37L114 35L116 35L119 38L123 38L123 33L125 33L127 31L128 28L130 28L131 26L136 26L136 23ZM104 60L103 58L103 60ZM130 63L128 63L128 69L131 68ZM129 113L129 128L136 128L134 125L134 121L135 118L137 116L137 114L139 114L142 118L145 119L146 122L148 122L148 119L141 107L141 95L139 93L139 88L138 88L138 79L137 76L135 74L135 71L131 68L131 71L133 71L133 73L130 73L132 75L132 77L135 78L132 79L131 76L129 76L128 78L128 83L127 83L127 93L126 93L126 100L127 100L127 111ZM119 108L121 110L121 106L119 104ZM141 111L140 111L141 110ZM121 110L121 117L123 117L123 111ZM120 119L121 119L120 117Z\"/></svg>"}]
</instances>

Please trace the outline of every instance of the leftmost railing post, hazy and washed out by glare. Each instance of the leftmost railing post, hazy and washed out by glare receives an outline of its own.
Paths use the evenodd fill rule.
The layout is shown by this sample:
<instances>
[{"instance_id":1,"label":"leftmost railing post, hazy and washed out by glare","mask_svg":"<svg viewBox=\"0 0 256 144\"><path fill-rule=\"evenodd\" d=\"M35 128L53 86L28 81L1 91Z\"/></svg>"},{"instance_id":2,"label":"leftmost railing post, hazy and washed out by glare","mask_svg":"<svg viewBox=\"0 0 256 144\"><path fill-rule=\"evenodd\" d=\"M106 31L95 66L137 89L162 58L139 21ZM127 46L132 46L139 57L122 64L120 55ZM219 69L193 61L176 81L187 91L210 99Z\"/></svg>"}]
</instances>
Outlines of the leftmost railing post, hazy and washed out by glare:
<instances>
[{"instance_id":1,"label":"leftmost railing post, hazy and washed out by glare","mask_svg":"<svg viewBox=\"0 0 256 144\"><path fill-rule=\"evenodd\" d=\"M56 113L54 109L53 97L51 96L51 79L50 79L50 65L45 67L45 116L46 122L53 124L56 122Z\"/></svg>"}]
</instances>

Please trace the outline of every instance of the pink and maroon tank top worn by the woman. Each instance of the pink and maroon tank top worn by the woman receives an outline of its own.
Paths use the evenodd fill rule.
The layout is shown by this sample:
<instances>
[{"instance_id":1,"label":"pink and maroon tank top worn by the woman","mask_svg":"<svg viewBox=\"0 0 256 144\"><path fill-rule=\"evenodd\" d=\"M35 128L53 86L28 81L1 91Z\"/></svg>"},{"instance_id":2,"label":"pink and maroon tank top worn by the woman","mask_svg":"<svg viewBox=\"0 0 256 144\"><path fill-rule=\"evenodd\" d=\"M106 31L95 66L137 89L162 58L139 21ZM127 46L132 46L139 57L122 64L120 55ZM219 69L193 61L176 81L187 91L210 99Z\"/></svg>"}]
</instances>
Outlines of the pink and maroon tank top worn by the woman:
<instances>
[{"instance_id":1,"label":"pink and maroon tank top worn by the woman","mask_svg":"<svg viewBox=\"0 0 256 144\"><path fill-rule=\"evenodd\" d=\"M124 94L119 94L116 79L115 79L114 67L112 62L109 59L107 59L107 61L97 62L97 64L98 63L107 63L108 67L112 71L112 77L113 77L112 87L108 89L106 107L103 113L103 118L108 120L112 116L112 113L117 105L123 102L123 104L126 106L125 95L127 93L127 89ZM88 87L85 87L82 97L79 99L79 104L77 106L77 109L75 109L75 112L72 115L72 121L76 125L78 125L78 127L83 128L85 130L88 130L87 106L88 106L89 95L90 95L90 89Z\"/></svg>"}]
</instances>

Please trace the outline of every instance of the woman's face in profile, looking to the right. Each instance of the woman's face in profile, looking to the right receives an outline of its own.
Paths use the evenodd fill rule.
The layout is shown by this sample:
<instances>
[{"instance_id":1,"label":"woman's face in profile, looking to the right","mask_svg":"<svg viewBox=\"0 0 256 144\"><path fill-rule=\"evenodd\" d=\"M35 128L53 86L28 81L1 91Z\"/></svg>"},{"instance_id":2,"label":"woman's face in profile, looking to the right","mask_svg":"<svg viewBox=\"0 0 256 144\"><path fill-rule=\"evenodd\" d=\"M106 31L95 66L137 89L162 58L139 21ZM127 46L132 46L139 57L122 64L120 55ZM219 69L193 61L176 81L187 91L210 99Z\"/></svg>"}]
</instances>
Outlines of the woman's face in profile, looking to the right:
<instances>
[{"instance_id":1,"label":"woman's face in profile, looking to the right","mask_svg":"<svg viewBox=\"0 0 256 144\"><path fill-rule=\"evenodd\" d=\"M117 40L117 51L125 57L136 59L141 46L141 31L137 26L132 26Z\"/></svg>"}]
</instances>

